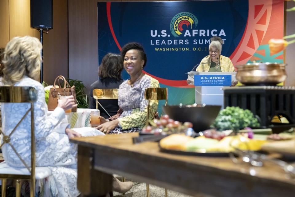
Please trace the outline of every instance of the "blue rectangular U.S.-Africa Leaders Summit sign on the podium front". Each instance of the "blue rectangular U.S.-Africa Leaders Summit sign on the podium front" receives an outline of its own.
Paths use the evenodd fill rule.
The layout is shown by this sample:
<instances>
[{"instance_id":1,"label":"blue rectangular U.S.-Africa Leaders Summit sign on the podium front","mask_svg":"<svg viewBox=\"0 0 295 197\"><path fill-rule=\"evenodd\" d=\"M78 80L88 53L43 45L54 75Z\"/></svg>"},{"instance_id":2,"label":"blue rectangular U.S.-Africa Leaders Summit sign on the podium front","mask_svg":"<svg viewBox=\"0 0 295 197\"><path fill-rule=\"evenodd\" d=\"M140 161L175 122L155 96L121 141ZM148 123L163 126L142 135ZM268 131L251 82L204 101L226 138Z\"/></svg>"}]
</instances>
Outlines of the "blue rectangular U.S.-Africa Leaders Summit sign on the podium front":
<instances>
[{"instance_id":1,"label":"blue rectangular U.S.-Africa Leaders Summit sign on the podium front","mask_svg":"<svg viewBox=\"0 0 295 197\"><path fill-rule=\"evenodd\" d=\"M195 86L231 86L231 75L229 74L206 74L194 75Z\"/></svg>"}]
</instances>

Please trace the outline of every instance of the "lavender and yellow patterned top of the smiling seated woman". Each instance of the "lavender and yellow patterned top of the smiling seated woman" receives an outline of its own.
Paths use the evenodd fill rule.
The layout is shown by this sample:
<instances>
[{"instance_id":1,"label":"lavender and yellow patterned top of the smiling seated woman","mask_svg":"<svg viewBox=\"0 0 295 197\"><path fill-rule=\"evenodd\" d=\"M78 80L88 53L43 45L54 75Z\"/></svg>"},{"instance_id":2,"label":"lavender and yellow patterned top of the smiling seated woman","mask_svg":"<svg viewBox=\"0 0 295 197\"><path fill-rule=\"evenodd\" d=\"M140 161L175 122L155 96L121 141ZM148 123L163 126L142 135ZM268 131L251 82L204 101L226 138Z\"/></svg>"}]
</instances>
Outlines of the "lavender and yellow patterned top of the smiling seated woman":
<instances>
[{"instance_id":1,"label":"lavender and yellow patterned top of the smiling seated woman","mask_svg":"<svg viewBox=\"0 0 295 197\"><path fill-rule=\"evenodd\" d=\"M147 120L148 101L144 98L144 90L148 87L159 87L158 80L145 74L133 86L124 81L119 88L118 105L123 110L119 117L119 125L122 129L132 127L143 128ZM150 101L149 119L154 118L158 109L158 101Z\"/></svg>"}]
</instances>

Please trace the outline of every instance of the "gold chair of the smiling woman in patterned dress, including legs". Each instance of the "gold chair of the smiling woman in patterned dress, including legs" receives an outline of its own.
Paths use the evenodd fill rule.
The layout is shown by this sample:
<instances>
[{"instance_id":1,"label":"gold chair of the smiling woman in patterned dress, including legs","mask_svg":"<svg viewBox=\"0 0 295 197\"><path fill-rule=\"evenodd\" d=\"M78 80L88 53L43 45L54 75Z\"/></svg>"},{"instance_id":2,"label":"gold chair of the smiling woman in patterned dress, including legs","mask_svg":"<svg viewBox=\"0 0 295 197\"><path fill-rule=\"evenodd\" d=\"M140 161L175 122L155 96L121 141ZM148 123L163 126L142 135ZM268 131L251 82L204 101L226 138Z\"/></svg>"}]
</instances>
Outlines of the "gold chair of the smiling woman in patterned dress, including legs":
<instances>
[{"instance_id":1,"label":"gold chair of the smiling woman in patterned dress, including legs","mask_svg":"<svg viewBox=\"0 0 295 197\"><path fill-rule=\"evenodd\" d=\"M147 112L147 124L148 126L148 117L150 113L150 101L151 100L166 100L165 106L167 105L168 101L168 89L167 88L146 88L144 91L144 97L148 100L148 112ZM160 117L162 117L163 112ZM147 183L147 197L150 196L150 188L149 184ZM165 196L168 196L168 191L165 189Z\"/></svg>"}]
</instances>

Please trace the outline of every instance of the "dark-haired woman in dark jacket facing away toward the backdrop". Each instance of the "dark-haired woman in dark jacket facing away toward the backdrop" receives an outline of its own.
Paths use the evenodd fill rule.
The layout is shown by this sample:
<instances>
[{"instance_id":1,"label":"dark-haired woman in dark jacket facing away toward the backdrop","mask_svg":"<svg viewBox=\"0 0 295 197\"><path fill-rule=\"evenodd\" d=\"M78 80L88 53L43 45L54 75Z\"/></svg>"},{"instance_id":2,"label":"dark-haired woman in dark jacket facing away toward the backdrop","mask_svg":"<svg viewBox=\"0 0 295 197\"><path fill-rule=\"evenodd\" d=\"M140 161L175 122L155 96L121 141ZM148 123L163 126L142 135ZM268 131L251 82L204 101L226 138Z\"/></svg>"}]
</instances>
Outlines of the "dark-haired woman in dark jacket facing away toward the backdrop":
<instances>
[{"instance_id":1,"label":"dark-haired woman in dark jacket facing away toward the backdrop","mask_svg":"<svg viewBox=\"0 0 295 197\"><path fill-rule=\"evenodd\" d=\"M99 80L91 84L89 93L89 106L90 109L96 109L96 99L93 98L93 90L96 88L119 88L120 84L124 81L121 78L123 70L123 61L121 55L108 53L104 56L99 66L98 77ZM98 99L98 109L100 115L104 118L109 118L117 113L119 110L117 99ZM110 116L109 116L110 115Z\"/></svg>"}]
</instances>

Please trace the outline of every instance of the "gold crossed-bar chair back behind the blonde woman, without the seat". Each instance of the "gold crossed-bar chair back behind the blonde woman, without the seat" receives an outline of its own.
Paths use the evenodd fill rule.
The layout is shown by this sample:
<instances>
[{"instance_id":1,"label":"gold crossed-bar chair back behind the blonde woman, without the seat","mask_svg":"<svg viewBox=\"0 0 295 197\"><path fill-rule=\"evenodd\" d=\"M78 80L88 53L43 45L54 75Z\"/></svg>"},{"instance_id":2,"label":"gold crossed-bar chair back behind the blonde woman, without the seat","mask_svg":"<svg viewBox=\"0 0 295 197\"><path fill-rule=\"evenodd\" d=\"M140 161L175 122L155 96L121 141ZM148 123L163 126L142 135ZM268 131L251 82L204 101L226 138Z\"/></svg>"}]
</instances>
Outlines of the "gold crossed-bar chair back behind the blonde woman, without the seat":
<instances>
[{"instance_id":1,"label":"gold crossed-bar chair back behind the blonde woman, without the seat","mask_svg":"<svg viewBox=\"0 0 295 197\"><path fill-rule=\"evenodd\" d=\"M35 134L34 134L34 102L37 101L37 90L33 87L26 86L0 86L0 102L1 103L30 103L31 107L26 111L26 114L22 117L22 119L18 122L18 124L14 127L14 129L10 132L10 134L5 135L0 129L0 133L3 136L2 144L0 148L5 144L9 144L10 147L14 150L15 154L22 161L22 163L26 166L30 175L9 175L7 177L2 178L23 178L30 179L31 181L31 190L30 196L33 196L35 191ZM29 165L22 159L19 153L16 151L12 143L10 142L10 137L17 129L17 127L22 123L28 113L31 112L31 168ZM3 174L1 176L4 176Z\"/></svg>"}]
</instances>

